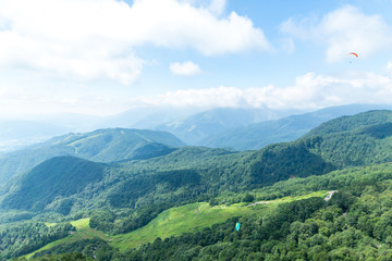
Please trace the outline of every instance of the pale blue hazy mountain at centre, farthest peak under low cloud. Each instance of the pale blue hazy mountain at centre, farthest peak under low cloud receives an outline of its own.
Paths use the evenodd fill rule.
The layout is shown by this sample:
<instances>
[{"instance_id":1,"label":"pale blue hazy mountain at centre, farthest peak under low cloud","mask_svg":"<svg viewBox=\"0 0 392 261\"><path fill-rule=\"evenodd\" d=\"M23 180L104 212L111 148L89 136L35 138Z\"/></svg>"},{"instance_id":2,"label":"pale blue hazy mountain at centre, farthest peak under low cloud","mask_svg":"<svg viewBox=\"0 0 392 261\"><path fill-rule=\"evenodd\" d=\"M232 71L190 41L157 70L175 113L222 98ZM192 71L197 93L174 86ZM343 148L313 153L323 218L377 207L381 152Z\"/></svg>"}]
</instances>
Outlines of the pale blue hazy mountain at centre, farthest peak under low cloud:
<instances>
[{"instance_id":1,"label":"pale blue hazy mountain at centre, farthest peak under low cloud","mask_svg":"<svg viewBox=\"0 0 392 261\"><path fill-rule=\"evenodd\" d=\"M200 141L208 136L230 128L278 119L287 113L290 112L269 109L218 108L158 125L156 129L170 132L188 145L200 145Z\"/></svg>"}]
</instances>

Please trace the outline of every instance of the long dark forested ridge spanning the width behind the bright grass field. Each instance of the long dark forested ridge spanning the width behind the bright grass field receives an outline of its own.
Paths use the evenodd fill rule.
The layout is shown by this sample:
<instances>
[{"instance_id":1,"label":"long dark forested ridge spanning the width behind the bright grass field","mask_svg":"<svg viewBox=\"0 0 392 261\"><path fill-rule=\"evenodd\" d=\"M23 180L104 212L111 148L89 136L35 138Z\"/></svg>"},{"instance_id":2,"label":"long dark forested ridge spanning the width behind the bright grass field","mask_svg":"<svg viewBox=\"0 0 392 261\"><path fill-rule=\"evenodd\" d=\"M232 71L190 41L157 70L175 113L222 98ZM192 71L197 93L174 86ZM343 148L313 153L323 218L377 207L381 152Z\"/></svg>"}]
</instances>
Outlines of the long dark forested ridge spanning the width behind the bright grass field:
<instances>
[{"instance_id":1,"label":"long dark forested ridge spanning the width behind the bright grass field","mask_svg":"<svg viewBox=\"0 0 392 261\"><path fill-rule=\"evenodd\" d=\"M223 191L248 190L290 177L321 175L346 166L390 162L392 132L391 128L384 128L388 125L384 115L391 113L372 111L342 117L339 120L342 124L345 121L357 123L366 115L376 120L371 125L363 126L358 123L359 127L351 130L306 136L258 151L229 152L222 149L184 147L162 157L108 164L101 178L70 192L63 186L72 187L73 182L77 182L73 178L94 171L95 163L88 163L84 171L77 167L77 164L86 165L84 162L74 162L73 167L69 166L73 164L59 164L57 167L65 169L56 172L62 178L70 178L66 185L62 184L62 178L44 178L50 176L54 166L41 164L17 182L8 184L7 188L12 189L8 189L2 196L1 207L59 211L59 206L66 204L66 211L75 213L102 206L131 209L150 204L172 206L205 200ZM323 127L331 128L329 124L334 122L326 123ZM35 178L37 184L42 184L39 189L47 188L50 192L30 192L27 198L24 181ZM59 189L52 190L52 187ZM45 203L34 207L23 203L29 200Z\"/></svg>"}]
</instances>

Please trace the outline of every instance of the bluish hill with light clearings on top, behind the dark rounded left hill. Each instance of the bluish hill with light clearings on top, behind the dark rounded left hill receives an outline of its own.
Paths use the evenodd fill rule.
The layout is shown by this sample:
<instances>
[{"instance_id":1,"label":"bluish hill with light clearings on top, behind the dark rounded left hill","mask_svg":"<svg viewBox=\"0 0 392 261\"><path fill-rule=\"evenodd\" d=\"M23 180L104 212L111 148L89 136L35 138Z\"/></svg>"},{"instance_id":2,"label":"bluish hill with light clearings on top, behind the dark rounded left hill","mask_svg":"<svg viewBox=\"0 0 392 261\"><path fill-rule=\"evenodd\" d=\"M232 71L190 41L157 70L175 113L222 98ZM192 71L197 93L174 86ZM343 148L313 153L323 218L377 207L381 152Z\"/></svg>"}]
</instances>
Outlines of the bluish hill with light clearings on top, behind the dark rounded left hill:
<instances>
[{"instance_id":1,"label":"bluish hill with light clearings on top, behind the dark rounded left hill","mask_svg":"<svg viewBox=\"0 0 392 261\"><path fill-rule=\"evenodd\" d=\"M185 146L174 135L147 129L108 128L68 134L0 158L0 185L14 174L58 156L78 157L97 162L147 159Z\"/></svg>"}]
</instances>

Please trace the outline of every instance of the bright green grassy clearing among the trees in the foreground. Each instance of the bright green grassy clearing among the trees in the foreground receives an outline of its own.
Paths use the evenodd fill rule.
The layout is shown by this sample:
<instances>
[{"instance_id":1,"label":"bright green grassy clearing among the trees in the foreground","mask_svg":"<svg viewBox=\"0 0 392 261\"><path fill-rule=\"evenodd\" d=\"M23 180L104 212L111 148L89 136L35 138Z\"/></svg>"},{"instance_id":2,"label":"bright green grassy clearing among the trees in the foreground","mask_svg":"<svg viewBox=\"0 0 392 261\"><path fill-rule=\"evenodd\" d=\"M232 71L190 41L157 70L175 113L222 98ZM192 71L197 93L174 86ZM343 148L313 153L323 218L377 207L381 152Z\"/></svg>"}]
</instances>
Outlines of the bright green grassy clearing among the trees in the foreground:
<instances>
[{"instance_id":1,"label":"bright green grassy clearing among the trees in the foreground","mask_svg":"<svg viewBox=\"0 0 392 261\"><path fill-rule=\"evenodd\" d=\"M326 191L317 191L295 198L285 197L271 200L268 201L268 203L257 204L255 207L248 207L247 203L216 207L210 207L206 202L185 204L179 208L172 208L163 211L146 226L140 227L134 232L111 237L110 244L111 246L119 248L121 251L125 251L126 249L137 247L142 244L152 243L157 237L164 239L170 236L179 236L183 233L195 233L205 227L210 227L213 224L222 223L230 217L244 216L252 213L266 214L268 211L272 210L281 203L310 197L324 198L326 196ZM71 224L76 227L75 234L50 243L25 257L30 258L34 253L41 250L86 238L99 237L105 240L109 239L108 235L89 227L89 219L73 221ZM50 226L53 224L48 223L47 225Z\"/></svg>"}]
</instances>

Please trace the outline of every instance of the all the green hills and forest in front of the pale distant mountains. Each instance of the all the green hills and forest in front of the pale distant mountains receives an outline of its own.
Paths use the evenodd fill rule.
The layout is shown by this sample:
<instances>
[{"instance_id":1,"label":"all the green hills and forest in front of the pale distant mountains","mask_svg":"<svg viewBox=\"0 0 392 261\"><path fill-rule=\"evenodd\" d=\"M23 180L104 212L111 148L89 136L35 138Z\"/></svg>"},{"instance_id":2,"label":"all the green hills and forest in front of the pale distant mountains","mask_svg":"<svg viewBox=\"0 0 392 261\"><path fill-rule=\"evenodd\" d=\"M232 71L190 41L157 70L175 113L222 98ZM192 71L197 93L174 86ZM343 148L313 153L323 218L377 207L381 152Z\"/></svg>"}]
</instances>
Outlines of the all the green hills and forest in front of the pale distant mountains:
<instances>
[{"instance_id":1,"label":"all the green hills and forest in front of the pale distant mountains","mask_svg":"<svg viewBox=\"0 0 392 261\"><path fill-rule=\"evenodd\" d=\"M330 110L292 116L291 126L282 119L282 133L328 119ZM315 121L301 126L307 119ZM56 137L12 159L30 166L0 188L0 259L392 254L390 110L323 121L259 150L186 146L166 132L110 128Z\"/></svg>"}]
</instances>

